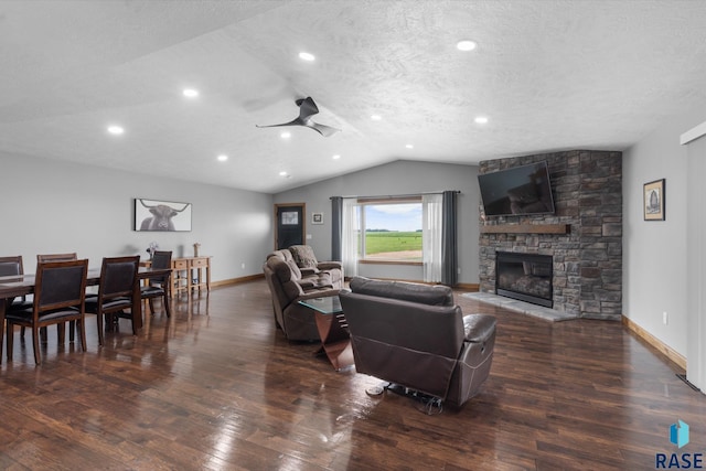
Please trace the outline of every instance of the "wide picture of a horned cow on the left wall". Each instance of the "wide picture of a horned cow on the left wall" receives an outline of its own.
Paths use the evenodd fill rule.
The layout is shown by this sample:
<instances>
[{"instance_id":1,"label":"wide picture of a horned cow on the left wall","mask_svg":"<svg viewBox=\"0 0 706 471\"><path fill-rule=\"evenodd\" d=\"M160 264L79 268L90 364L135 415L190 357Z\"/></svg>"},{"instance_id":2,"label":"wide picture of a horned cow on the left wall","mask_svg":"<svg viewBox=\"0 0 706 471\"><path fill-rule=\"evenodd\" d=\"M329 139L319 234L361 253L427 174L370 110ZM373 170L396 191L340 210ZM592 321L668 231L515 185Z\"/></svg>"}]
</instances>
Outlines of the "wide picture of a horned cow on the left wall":
<instances>
[{"instance_id":1,"label":"wide picture of a horned cow on the left wall","mask_svg":"<svg viewBox=\"0 0 706 471\"><path fill-rule=\"evenodd\" d=\"M189 232L191 203L136 197L135 231Z\"/></svg>"}]
</instances>

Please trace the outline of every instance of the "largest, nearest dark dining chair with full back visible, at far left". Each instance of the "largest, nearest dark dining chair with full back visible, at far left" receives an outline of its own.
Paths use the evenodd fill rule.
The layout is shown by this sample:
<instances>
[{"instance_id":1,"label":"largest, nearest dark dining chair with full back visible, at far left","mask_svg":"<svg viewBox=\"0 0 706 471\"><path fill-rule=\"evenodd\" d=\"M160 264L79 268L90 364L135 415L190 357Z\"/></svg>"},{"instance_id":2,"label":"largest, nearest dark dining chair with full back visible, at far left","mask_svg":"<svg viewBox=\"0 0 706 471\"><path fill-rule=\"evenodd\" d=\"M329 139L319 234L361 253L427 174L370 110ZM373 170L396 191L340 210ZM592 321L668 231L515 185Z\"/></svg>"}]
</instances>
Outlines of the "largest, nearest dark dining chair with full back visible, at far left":
<instances>
[{"instance_id":1,"label":"largest, nearest dark dining chair with full back visible, at far left","mask_svg":"<svg viewBox=\"0 0 706 471\"><path fill-rule=\"evenodd\" d=\"M47 325L57 324L58 342L63 343L64 324L67 321L76 322L79 325L81 346L86 351L84 315L87 274L87 259L38 264L32 308L6 313L8 332L12 332L14 325L32 329L32 349L38 365L42 363L40 329ZM8 360L12 360L12 338L8 335Z\"/></svg>"}]
</instances>

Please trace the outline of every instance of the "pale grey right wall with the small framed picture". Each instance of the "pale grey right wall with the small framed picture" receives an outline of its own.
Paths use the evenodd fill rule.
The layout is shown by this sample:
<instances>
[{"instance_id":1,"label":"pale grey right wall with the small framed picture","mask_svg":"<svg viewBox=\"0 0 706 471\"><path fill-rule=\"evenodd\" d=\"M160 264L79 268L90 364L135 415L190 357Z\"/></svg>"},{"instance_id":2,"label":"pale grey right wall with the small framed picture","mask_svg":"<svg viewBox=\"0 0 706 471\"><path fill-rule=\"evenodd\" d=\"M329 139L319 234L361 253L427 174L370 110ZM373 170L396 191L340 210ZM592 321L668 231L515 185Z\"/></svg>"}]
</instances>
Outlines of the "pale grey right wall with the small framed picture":
<instances>
[{"instance_id":1,"label":"pale grey right wall with the small framed picture","mask_svg":"<svg viewBox=\"0 0 706 471\"><path fill-rule=\"evenodd\" d=\"M686 356L686 148L703 108L672 118L623 153L623 314ZM643 221L642 185L666 179L666 221ZM663 323L667 312L668 323Z\"/></svg>"}]
</instances>

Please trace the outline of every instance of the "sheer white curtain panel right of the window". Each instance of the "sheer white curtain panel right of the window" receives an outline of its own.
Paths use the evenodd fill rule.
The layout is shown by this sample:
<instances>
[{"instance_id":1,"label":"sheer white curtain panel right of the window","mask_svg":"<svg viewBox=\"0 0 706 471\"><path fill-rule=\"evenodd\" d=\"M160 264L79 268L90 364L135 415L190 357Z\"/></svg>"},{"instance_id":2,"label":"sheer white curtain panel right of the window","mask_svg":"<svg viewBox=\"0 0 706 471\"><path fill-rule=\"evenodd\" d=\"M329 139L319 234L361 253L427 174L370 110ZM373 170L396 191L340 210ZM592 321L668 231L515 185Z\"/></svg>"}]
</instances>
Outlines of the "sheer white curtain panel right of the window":
<instances>
[{"instance_id":1,"label":"sheer white curtain panel right of the window","mask_svg":"<svg viewBox=\"0 0 706 471\"><path fill-rule=\"evenodd\" d=\"M441 282L442 208L441 194L421 196L421 253L424 254L424 280L427 282Z\"/></svg>"}]
</instances>

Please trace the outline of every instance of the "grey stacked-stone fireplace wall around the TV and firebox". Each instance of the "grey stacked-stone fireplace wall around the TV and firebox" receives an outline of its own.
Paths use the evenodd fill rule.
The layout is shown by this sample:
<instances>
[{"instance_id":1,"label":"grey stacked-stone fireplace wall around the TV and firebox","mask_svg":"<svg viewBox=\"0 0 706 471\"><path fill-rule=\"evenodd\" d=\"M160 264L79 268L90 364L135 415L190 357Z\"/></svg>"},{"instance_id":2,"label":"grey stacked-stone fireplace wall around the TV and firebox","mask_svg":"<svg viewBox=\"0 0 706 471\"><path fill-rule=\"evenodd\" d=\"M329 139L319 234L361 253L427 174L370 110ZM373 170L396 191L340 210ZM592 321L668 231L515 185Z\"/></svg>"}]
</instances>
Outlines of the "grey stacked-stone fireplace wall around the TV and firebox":
<instances>
[{"instance_id":1,"label":"grey stacked-stone fireplace wall around the TV and firebox","mask_svg":"<svg viewBox=\"0 0 706 471\"><path fill-rule=\"evenodd\" d=\"M480 291L495 292L495 253L550 255L554 309L581 318L622 314L622 152L571 150L486 160L479 173L546 160L555 214L484 217ZM525 231L525 225L536 231ZM566 226L567 231L545 231ZM488 231L488 232L484 232Z\"/></svg>"}]
</instances>

